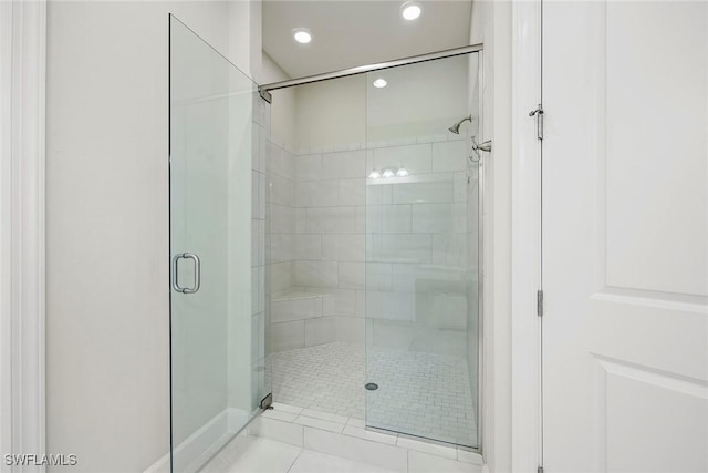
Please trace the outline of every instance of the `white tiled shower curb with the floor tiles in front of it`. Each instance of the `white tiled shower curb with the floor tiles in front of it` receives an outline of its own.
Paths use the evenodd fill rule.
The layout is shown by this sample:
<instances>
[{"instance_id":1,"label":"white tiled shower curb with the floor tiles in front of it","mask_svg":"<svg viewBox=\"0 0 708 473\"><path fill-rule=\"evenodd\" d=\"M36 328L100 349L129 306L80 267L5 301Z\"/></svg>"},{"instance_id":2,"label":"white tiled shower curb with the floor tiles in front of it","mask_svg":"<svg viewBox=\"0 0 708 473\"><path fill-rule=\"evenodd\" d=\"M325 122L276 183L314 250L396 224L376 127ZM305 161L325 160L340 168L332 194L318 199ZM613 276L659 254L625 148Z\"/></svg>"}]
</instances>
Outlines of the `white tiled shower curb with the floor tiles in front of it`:
<instances>
[{"instance_id":1,"label":"white tiled shower curb with the floor tiles in front of it","mask_svg":"<svg viewBox=\"0 0 708 473\"><path fill-rule=\"evenodd\" d=\"M290 455L275 465L277 456ZM302 459L302 460L300 460ZM294 461L294 463L292 463ZM479 453L372 432L362 420L273 403L201 470L208 472L481 473Z\"/></svg>"}]
</instances>

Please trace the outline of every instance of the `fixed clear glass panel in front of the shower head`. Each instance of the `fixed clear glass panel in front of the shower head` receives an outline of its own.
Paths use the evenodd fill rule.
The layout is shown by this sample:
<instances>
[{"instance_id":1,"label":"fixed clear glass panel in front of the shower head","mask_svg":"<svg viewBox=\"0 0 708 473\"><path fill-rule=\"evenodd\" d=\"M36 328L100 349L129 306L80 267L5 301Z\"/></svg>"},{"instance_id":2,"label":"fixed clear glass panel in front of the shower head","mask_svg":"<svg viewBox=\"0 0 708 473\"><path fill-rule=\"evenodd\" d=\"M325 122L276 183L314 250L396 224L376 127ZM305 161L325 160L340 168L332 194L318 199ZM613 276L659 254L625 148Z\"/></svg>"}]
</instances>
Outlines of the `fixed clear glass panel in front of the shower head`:
<instances>
[{"instance_id":1,"label":"fixed clear glass panel in front of the shower head","mask_svg":"<svg viewBox=\"0 0 708 473\"><path fill-rule=\"evenodd\" d=\"M366 424L471 448L479 446L480 186L468 157L479 126L477 61L372 72L366 90L366 382L377 384L367 390ZM458 134L449 131L458 123Z\"/></svg>"}]
</instances>

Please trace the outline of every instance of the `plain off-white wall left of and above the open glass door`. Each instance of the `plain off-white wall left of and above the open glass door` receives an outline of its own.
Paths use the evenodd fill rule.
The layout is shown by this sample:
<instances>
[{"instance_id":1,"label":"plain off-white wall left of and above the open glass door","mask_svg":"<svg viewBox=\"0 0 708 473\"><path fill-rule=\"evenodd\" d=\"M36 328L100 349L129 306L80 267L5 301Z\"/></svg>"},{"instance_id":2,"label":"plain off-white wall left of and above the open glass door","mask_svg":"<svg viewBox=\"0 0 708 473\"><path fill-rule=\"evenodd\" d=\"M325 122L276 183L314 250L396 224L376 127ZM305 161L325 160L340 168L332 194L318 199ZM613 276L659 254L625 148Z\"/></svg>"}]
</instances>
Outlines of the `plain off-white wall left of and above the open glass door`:
<instances>
[{"instance_id":1,"label":"plain off-white wall left of and above the open glass door","mask_svg":"<svg viewBox=\"0 0 708 473\"><path fill-rule=\"evenodd\" d=\"M49 4L46 444L72 471L169 449L168 13L249 71L243 8Z\"/></svg>"}]
</instances>

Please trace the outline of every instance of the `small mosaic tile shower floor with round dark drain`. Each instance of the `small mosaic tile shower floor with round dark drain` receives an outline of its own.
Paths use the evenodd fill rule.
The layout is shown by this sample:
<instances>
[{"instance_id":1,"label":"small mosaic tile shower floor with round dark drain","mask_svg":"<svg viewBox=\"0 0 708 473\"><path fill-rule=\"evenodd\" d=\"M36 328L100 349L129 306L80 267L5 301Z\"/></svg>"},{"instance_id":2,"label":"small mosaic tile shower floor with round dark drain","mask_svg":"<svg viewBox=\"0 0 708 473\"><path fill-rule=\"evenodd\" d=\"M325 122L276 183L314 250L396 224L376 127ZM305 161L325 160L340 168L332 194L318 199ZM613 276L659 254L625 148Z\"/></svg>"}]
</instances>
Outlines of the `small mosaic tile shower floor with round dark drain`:
<instances>
[{"instance_id":1,"label":"small mosaic tile shower floor with round dark drain","mask_svg":"<svg viewBox=\"0 0 708 473\"><path fill-rule=\"evenodd\" d=\"M378 389L366 391L366 382ZM368 426L477 446L469 371L458 357L377 347L366 353L364 346L340 342L281 351L273 354L273 397L366 419Z\"/></svg>"}]
</instances>

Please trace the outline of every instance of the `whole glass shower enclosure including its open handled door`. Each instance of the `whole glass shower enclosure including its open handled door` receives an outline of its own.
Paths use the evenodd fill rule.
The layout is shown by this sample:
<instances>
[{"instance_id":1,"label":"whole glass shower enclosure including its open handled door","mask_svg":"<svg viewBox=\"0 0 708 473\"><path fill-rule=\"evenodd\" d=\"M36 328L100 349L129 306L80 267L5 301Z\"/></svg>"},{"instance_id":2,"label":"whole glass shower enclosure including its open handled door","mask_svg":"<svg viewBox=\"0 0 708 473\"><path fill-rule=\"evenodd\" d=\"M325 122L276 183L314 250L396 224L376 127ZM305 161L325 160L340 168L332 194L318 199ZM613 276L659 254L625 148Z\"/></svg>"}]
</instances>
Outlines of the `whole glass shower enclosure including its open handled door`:
<instances>
[{"instance_id":1,"label":"whole glass shower enclosure including its open handled door","mask_svg":"<svg viewBox=\"0 0 708 473\"><path fill-rule=\"evenodd\" d=\"M480 58L259 88L170 17L173 471L271 401L481 449Z\"/></svg>"}]
</instances>

